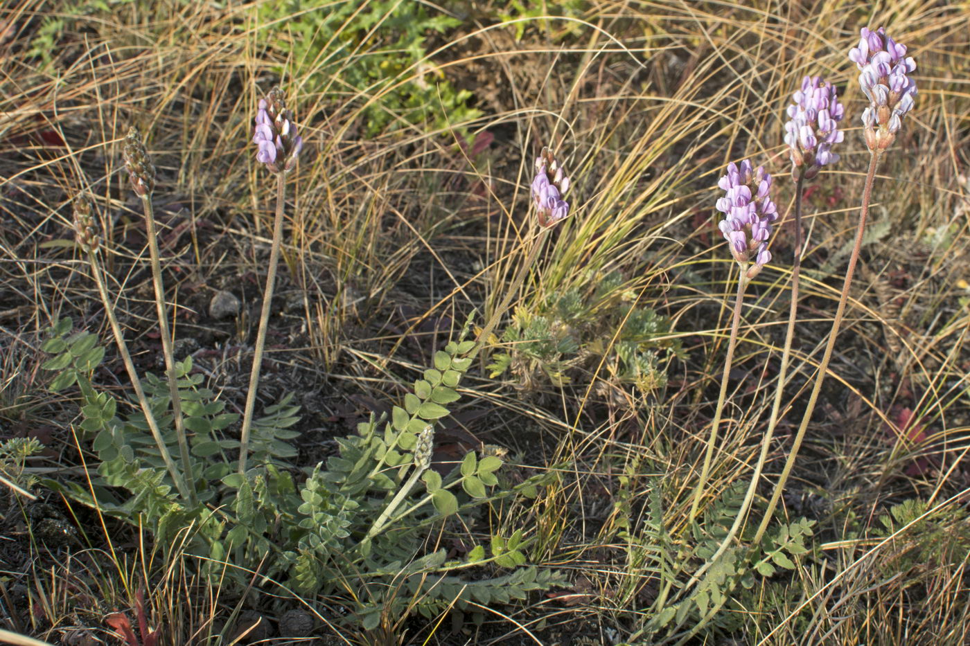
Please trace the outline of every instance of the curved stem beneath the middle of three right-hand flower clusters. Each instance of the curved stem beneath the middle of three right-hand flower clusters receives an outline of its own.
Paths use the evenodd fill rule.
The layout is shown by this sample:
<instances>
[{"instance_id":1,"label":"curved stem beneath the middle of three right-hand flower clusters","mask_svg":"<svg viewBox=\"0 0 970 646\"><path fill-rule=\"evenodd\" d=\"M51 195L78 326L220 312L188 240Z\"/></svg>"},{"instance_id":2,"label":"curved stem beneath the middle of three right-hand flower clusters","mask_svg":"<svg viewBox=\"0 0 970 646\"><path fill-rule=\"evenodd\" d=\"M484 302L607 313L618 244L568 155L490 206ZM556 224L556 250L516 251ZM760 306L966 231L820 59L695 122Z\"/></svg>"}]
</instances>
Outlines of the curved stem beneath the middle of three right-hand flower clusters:
<instances>
[{"instance_id":1,"label":"curved stem beneath the middle of three right-hand flower clusters","mask_svg":"<svg viewBox=\"0 0 970 646\"><path fill-rule=\"evenodd\" d=\"M795 181L794 185L794 259L792 260L792 307L789 308L788 329L785 333L785 349L782 351L781 368L778 370L778 386L775 388L774 404L771 405L771 419L768 421L768 430L761 439L761 452L758 456L758 464L755 466L755 472L751 476L751 484L748 485L748 491L744 496L744 501L741 502L741 508L738 509L737 515L734 517L733 524L731 524L730 529L727 531L727 535L724 537L724 540L721 541L721 545L718 546L714 556L708 559L707 563L695 572L694 578L699 578L708 567L714 565L721 555L725 553L727 546L730 545L734 535L738 532L741 524L747 517L748 509L751 507L751 502L755 499L755 491L758 489L758 482L761 478L761 470L764 468L764 462L768 456L768 447L771 444L771 437L774 435L775 427L778 424L778 412L781 410L782 395L785 392L785 377L788 373L789 358L792 355L794 321L798 311L798 275L801 269L801 200L803 192L804 174L798 176L798 179ZM758 539L755 540L755 544L758 544Z\"/></svg>"}]
</instances>

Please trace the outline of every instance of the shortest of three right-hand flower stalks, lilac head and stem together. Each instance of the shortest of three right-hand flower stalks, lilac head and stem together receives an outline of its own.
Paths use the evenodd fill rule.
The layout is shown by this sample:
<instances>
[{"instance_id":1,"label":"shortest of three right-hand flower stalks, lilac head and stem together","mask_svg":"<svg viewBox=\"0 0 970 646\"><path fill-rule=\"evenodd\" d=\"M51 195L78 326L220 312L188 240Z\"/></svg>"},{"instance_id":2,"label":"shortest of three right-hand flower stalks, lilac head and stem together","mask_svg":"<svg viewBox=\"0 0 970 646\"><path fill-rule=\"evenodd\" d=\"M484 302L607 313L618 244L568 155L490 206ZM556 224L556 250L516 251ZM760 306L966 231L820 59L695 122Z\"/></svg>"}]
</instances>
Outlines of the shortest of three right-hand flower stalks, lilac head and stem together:
<instances>
[{"instance_id":1,"label":"shortest of three right-hand flower stalks, lilac head and stem together","mask_svg":"<svg viewBox=\"0 0 970 646\"><path fill-rule=\"evenodd\" d=\"M714 456L714 446L717 443L718 427L721 425L727 397L727 375L730 372L734 347L737 344L737 330L741 323L744 292L751 279L758 275L764 265L771 260L767 240L771 236L771 224L778 219L778 209L770 197L771 176L763 167L753 169L751 162L747 160L739 165L728 164L727 174L718 181L718 186L725 191L725 196L716 204L717 210L725 215L718 227L727 240L731 255L737 261L740 275L731 316L725 368L721 375L721 393L714 410L711 433L707 440L707 450L704 454L703 467L700 469L700 478L697 480L694 501L691 503L692 519L695 518L700 506L700 499L711 468L711 459Z\"/></svg>"}]
</instances>

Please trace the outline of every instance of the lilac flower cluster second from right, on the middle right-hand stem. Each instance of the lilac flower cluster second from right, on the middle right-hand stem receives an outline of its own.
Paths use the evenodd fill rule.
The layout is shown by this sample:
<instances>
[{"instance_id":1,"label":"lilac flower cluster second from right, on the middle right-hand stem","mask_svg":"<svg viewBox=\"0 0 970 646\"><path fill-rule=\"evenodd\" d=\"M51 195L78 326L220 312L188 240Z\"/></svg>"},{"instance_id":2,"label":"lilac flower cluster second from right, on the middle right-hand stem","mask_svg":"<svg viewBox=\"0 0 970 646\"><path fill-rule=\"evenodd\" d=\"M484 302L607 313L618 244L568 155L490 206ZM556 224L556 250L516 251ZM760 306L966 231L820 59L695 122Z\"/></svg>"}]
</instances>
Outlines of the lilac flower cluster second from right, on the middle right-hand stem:
<instances>
[{"instance_id":1,"label":"lilac flower cluster second from right, on the middle right-hand stem","mask_svg":"<svg viewBox=\"0 0 970 646\"><path fill-rule=\"evenodd\" d=\"M792 153L792 178L814 178L825 164L839 160L831 151L833 144L845 139L838 129L845 115L832 84L820 77L805 77L801 89L792 94L794 102L788 109L785 123L785 143Z\"/></svg>"}]
</instances>

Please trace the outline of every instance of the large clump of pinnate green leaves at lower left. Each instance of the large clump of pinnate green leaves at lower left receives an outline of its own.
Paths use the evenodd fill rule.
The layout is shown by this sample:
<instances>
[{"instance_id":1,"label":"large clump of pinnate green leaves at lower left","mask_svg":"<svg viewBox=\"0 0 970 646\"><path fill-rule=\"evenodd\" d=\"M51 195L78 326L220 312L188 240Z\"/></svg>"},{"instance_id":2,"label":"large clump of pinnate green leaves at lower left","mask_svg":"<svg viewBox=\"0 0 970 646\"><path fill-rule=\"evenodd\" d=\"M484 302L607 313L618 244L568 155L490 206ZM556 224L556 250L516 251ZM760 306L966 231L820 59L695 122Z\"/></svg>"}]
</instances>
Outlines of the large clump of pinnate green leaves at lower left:
<instances>
[{"instance_id":1,"label":"large clump of pinnate green leaves at lower left","mask_svg":"<svg viewBox=\"0 0 970 646\"><path fill-rule=\"evenodd\" d=\"M353 621L368 630L411 609L431 616L470 601L526 598L562 583L555 572L527 565L529 539L521 531L491 536L487 549L479 544L464 560L446 560L444 549L430 546L430 536L442 524L449 527L450 518L468 518L511 496L534 497L554 477L544 473L503 489L496 475L501 458L474 451L450 468L432 468L433 427L459 399L456 387L477 352L474 341L450 342L436 352L435 368L414 382L390 421L372 416L356 435L339 438L339 456L318 464L303 482L287 462L295 451L286 440L297 435L287 429L299 408L291 395L253 425L252 468L243 475L236 468L240 442L223 433L239 416L224 412L224 403L202 387L191 359L177 363L178 396L191 433L189 479L199 492L193 504L174 492L145 415L134 408L119 417L113 396L92 385L91 372L104 357L95 337L72 335L69 319L49 334L44 347L57 353L44 365L54 373L51 387L79 385L80 427L101 460L93 490L74 482L49 486L149 528L163 548L192 527L185 540L210 557L212 576L229 565L225 573L242 587L248 582L242 572L258 567L263 580L282 579L310 597L352 590ZM145 392L162 436L175 447L168 383L147 374ZM473 579L457 575L469 568L475 568Z\"/></svg>"}]
</instances>

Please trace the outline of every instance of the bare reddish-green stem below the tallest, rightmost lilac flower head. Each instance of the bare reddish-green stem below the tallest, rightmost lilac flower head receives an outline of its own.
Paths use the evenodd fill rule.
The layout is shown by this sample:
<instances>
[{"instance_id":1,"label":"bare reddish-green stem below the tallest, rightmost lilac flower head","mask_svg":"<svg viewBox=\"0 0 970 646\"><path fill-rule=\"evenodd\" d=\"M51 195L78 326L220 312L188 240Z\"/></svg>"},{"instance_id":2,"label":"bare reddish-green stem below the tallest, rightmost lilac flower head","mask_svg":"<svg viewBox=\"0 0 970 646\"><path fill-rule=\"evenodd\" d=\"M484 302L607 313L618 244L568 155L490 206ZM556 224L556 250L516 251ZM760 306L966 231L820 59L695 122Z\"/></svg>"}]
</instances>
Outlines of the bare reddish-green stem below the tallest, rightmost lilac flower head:
<instances>
[{"instance_id":1,"label":"bare reddish-green stem below the tallest, rightmost lilac flower head","mask_svg":"<svg viewBox=\"0 0 970 646\"><path fill-rule=\"evenodd\" d=\"M782 491L785 489L785 483L788 481L788 477L792 473L792 466L794 465L795 457L798 455L798 449L801 448L801 441L805 437L805 431L808 429L808 425L812 421L812 412L815 410L815 404L819 401L819 393L822 391L822 384L825 380L825 372L828 371L828 362L832 358L832 351L835 349L835 339L837 339L839 336L839 327L842 325L842 318L845 315L846 304L849 302L849 288L852 286L852 276L856 272L858 252L859 249L862 248L862 236L865 233L865 220L869 214L869 201L872 199L872 184L876 178L876 168L879 166L879 157L881 152L881 150L873 150L872 156L869 158L869 172L865 176L865 185L862 188L862 207L859 210L856 243L853 245L852 255L849 257L849 267L846 269L845 282L842 285L842 294L839 296L839 305L835 309L835 318L832 320L832 329L828 333L828 342L825 343L825 352L822 355L822 363L819 364L819 371L815 377L815 385L812 388L812 394L809 396L808 405L805 408L805 412L802 414L801 425L798 427L798 431L794 436L792 451L789 453L788 460L785 462L785 468L782 469L782 474L778 478L778 484L775 486L775 491L771 494L771 501L768 502L768 508L764 512L764 518L761 519L761 524L758 527L758 533L755 534L756 544L758 541L760 541L761 536L764 535L764 531L767 529L768 523L771 522L771 517L774 515L775 507L778 504L778 499L781 498Z\"/></svg>"}]
</instances>

